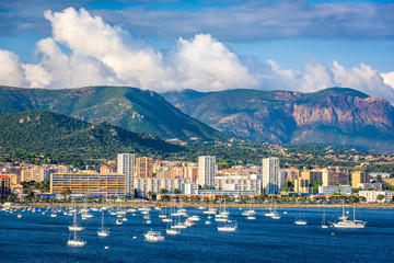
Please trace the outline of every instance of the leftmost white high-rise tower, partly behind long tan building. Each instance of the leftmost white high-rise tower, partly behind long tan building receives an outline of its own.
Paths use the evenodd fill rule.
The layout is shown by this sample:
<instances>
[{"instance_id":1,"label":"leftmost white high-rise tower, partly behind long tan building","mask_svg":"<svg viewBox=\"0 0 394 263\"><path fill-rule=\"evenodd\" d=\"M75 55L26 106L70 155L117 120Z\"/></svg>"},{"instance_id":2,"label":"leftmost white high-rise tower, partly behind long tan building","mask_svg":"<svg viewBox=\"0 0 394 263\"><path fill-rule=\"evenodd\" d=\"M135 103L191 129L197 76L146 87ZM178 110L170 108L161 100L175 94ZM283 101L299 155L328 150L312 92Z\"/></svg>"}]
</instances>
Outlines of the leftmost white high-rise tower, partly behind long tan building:
<instances>
[{"instance_id":1,"label":"leftmost white high-rise tower, partly behind long tan building","mask_svg":"<svg viewBox=\"0 0 394 263\"><path fill-rule=\"evenodd\" d=\"M136 172L136 155L135 153L118 153L117 157L117 173L126 174L126 195L132 196L134 179Z\"/></svg>"}]
</instances>

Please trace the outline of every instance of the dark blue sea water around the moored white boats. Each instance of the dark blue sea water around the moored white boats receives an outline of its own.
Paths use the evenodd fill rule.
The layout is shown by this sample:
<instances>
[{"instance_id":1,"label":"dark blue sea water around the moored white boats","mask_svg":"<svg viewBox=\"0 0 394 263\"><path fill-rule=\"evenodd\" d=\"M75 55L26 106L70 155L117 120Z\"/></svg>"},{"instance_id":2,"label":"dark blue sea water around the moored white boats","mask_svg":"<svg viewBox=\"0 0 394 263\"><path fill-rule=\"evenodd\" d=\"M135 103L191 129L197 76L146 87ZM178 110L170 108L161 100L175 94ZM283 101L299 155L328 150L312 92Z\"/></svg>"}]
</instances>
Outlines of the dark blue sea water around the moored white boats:
<instances>
[{"instance_id":1,"label":"dark blue sea water around the moored white boats","mask_svg":"<svg viewBox=\"0 0 394 263\"><path fill-rule=\"evenodd\" d=\"M323 211L327 221L338 215L331 208L303 209L306 226L293 224L297 208L279 209L279 220L264 217L263 208L256 209L256 220L245 219L237 208L228 210L237 222L236 232L219 232L213 218L212 225L205 225L207 215L188 208L201 220L178 236L164 233L166 224L158 210L151 211L150 225L136 213L117 226L116 217L106 213L105 225L111 228L106 238L97 237L101 213L93 213L93 218L79 218L86 227L79 235L86 240L83 248L66 244L72 217L25 211L16 218L16 213L0 211L0 262L394 262L393 209L358 209L357 217L368 221L364 229L320 228ZM165 240L146 241L143 233L150 229L161 231Z\"/></svg>"}]
</instances>

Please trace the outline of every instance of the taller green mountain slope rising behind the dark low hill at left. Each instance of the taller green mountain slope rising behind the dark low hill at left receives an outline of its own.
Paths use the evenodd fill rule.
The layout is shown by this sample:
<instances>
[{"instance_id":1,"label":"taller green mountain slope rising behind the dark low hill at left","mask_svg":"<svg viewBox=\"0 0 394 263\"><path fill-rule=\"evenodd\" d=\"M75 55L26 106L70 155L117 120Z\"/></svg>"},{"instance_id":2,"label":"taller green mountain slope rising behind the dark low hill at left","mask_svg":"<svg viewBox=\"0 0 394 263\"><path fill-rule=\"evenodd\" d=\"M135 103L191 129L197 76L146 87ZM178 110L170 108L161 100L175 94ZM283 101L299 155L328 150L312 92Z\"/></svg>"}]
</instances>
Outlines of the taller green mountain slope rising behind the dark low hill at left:
<instances>
[{"instance_id":1,"label":"taller green mountain slope rising behind the dark low hill at left","mask_svg":"<svg viewBox=\"0 0 394 263\"><path fill-rule=\"evenodd\" d=\"M128 87L88 87L44 90L0 87L0 114L39 108L107 122L136 133L162 138L225 139L218 130L184 114L161 95Z\"/></svg>"}]
</instances>

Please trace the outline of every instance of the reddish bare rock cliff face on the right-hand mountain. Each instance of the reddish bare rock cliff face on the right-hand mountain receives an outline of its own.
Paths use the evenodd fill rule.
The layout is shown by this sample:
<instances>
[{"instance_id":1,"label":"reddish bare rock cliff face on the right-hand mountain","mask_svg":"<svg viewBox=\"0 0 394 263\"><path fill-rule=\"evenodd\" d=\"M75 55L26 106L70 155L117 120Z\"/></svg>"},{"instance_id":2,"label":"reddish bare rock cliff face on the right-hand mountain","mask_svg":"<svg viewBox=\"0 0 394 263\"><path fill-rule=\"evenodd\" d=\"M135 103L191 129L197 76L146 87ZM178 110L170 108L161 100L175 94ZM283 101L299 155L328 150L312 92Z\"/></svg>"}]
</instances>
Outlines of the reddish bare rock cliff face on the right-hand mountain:
<instances>
[{"instance_id":1,"label":"reddish bare rock cliff face on the right-hand mountain","mask_svg":"<svg viewBox=\"0 0 394 263\"><path fill-rule=\"evenodd\" d=\"M394 125L393 107L378 98L329 94L318 103L294 103L292 115L300 128L325 125L337 127L345 133L355 133L369 125Z\"/></svg>"}]
</instances>

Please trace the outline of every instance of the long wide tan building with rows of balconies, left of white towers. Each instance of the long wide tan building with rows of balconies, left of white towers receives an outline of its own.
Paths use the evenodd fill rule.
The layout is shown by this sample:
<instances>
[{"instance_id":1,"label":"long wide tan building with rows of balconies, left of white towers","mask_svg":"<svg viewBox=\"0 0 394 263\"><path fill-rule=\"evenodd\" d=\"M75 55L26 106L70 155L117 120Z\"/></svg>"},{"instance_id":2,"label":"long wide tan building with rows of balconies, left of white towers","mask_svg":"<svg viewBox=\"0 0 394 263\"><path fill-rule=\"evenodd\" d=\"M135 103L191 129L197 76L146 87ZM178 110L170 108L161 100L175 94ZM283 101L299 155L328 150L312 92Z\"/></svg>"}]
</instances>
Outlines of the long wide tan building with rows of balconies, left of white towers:
<instances>
[{"instance_id":1,"label":"long wide tan building with rows of balconies, left of white towers","mask_svg":"<svg viewBox=\"0 0 394 263\"><path fill-rule=\"evenodd\" d=\"M126 174L96 171L50 174L50 193L60 194L63 188L70 188L72 194L85 196L124 196Z\"/></svg>"}]
</instances>

